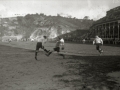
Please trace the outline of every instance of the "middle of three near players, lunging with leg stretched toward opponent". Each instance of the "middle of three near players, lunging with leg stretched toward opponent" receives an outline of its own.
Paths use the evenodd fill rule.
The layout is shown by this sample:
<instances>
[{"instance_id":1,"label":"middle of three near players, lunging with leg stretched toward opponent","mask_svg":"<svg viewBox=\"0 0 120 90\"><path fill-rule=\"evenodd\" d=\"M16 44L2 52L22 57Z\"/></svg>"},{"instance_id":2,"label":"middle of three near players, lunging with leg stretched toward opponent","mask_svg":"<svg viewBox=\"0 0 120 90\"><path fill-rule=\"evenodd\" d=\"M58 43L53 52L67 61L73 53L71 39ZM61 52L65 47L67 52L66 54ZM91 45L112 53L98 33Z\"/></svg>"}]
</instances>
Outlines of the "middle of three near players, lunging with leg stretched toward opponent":
<instances>
[{"instance_id":1,"label":"middle of three near players, lunging with leg stretched toward opponent","mask_svg":"<svg viewBox=\"0 0 120 90\"><path fill-rule=\"evenodd\" d=\"M64 39L63 38L61 39L60 37L58 37L55 48L53 48L53 51L49 51L47 56L49 56L52 52L56 51L58 55L63 56L63 58L65 58L64 54L60 54L60 49L64 50Z\"/></svg>"}]
</instances>

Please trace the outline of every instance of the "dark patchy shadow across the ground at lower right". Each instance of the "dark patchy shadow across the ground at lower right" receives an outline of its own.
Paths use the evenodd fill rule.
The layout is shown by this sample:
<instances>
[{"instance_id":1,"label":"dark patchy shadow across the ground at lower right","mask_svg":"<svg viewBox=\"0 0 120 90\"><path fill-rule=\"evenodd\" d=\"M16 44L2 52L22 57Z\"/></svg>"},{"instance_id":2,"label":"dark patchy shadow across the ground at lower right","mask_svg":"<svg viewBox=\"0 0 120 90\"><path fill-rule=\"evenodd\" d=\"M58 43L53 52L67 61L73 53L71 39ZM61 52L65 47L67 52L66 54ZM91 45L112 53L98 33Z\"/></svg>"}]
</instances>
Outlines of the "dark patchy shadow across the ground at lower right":
<instances>
[{"instance_id":1,"label":"dark patchy shadow across the ground at lower right","mask_svg":"<svg viewBox=\"0 0 120 90\"><path fill-rule=\"evenodd\" d=\"M108 75L120 71L120 56L68 56L63 66L67 72L54 77L75 90L120 89L120 82Z\"/></svg>"}]
</instances>

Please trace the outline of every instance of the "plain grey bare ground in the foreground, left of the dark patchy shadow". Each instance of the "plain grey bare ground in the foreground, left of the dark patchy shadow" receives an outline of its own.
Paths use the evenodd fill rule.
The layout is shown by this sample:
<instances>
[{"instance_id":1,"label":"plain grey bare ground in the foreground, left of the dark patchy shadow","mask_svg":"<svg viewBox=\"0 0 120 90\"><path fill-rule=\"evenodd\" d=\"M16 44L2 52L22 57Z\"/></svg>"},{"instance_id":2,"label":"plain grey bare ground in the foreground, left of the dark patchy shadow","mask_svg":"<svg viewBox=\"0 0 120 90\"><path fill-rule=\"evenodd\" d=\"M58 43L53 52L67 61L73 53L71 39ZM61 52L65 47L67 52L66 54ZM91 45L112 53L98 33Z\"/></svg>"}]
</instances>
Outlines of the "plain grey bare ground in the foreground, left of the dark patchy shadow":
<instances>
[{"instance_id":1,"label":"plain grey bare ground in the foreground, left of the dark patchy shadow","mask_svg":"<svg viewBox=\"0 0 120 90\"><path fill-rule=\"evenodd\" d=\"M64 90L54 75L66 70L60 65L62 57L46 57L39 53L0 45L0 90Z\"/></svg>"}]
</instances>

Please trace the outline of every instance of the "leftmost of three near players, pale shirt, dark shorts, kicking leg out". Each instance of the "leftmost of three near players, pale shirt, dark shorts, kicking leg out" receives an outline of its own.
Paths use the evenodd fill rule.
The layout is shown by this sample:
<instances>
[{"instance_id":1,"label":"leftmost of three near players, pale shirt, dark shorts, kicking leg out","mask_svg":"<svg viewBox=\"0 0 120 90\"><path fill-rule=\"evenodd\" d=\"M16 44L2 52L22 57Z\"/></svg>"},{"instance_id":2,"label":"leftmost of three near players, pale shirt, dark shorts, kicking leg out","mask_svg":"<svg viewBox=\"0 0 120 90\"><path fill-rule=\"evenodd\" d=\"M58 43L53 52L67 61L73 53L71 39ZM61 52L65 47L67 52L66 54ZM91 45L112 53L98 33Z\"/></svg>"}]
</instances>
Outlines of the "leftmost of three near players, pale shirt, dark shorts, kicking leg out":
<instances>
[{"instance_id":1,"label":"leftmost of three near players, pale shirt, dark shorts, kicking leg out","mask_svg":"<svg viewBox=\"0 0 120 90\"><path fill-rule=\"evenodd\" d=\"M37 44L36 44L36 51L35 51L35 59L37 60L37 54L39 52L39 49L43 49L45 52L49 52L44 48L44 44L47 42L47 36L43 36L43 38L38 37Z\"/></svg>"}]
</instances>

